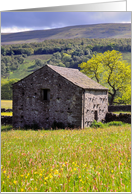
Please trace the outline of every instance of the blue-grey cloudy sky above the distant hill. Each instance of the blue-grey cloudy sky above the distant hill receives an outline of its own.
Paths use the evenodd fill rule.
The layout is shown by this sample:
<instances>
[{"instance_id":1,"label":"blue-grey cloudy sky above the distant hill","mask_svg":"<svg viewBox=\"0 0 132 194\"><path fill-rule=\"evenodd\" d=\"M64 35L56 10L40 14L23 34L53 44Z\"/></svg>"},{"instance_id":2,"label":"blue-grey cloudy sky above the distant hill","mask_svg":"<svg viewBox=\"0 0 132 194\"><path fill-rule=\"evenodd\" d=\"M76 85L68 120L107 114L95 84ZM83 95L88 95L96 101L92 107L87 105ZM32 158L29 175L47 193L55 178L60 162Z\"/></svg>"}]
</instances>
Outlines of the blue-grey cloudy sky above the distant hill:
<instances>
[{"instance_id":1,"label":"blue-grey cloudy sky above the distant hill","mask_svg":"<svg viewBox=\"0 0 132 194\"><path fill-rule=\"evenodd\" d=\"M1 33L101 23L131 23L131 12L1 12Z\"/></svg>"}]
</instances>

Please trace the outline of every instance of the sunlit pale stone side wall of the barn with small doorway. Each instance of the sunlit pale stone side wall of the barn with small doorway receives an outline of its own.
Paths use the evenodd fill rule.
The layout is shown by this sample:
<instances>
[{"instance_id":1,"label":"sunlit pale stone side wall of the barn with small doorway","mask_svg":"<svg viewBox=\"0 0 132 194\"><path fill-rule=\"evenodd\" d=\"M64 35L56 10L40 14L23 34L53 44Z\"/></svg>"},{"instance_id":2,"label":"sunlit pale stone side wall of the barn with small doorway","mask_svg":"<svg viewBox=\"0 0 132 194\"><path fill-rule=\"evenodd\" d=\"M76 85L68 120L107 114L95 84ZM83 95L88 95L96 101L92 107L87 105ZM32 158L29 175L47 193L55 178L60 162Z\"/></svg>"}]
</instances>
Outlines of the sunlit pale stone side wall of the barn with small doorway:
<instances>
[{"instance_id":1,"label":"sunlit pale stone side wall of the barn with small doorway","mask_svg":"<svg viewBox=\"0 0 132 194\"><path fill-rule=\"evenodd\" d=\"M93 120L102 121L108 112L107 91L86 90L84 93L84 127L89 127Z\"/></svg>"}]
</instances>

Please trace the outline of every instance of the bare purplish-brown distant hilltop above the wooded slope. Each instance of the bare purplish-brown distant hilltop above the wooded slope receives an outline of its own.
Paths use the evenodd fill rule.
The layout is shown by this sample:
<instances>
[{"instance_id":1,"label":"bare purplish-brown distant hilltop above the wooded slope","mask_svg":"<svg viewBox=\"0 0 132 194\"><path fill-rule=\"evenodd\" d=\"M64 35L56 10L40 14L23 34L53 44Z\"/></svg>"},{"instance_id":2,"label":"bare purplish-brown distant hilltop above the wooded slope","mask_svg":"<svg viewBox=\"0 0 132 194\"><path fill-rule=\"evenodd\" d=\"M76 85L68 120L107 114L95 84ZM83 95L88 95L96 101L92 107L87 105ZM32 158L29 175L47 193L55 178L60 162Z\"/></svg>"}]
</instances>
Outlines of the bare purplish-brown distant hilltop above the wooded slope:
<instances>
[{"instance_id":1,"label":"bare purplish-brown distant hilltop above the wooded slope","mask_svg":"<svg viewBox=\"0 0 132 194\"><path fill-rule=\"evenodd\" d=\"M19 33L2 33L1 44L42 42L46 39L74 38L131 38L131 24L93 24L70 26L50 30L34 30Z\"/></svg>"}]
</instances>

